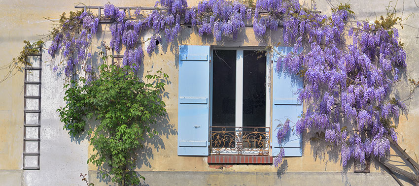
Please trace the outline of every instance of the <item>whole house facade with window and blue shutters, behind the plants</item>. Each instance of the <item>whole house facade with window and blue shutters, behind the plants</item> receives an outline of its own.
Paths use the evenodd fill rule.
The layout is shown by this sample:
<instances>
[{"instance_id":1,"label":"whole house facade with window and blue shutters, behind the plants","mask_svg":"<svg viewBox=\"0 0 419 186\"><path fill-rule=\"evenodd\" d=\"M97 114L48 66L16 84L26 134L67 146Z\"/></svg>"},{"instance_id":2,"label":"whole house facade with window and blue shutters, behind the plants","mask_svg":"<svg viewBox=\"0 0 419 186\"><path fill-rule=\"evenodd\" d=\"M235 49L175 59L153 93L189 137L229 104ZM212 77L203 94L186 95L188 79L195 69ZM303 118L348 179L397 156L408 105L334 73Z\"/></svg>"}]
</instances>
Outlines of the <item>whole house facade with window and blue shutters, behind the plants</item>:
<instances>
[{"instance_id":1,"label":"whole house facade with window and blue shutters, behind the plants","mask_svg":"<svg viewBox=\"0 0 419 186\"><path fill-rule=\"evenodd\" d=\"M188 0L188 5L198 2ZM371 22L376 16L384 15L388 5L381 0L333 3L341 2L351 3L356 20ZM83 3L102 6L107 1ZM155 1L111 3L121 7L153 7ZM80 4L75 1L5 2L0 7L5 13L0 26L1 64L18 55L23 40L37 40L41 37L38 34L48 33L51 22L44 18L59 19L62 12L74 11L75 5ZM321 12L331 14L327 1L318 1L316 6ZM396 7L403 9L404 15L419 10L413 0L399 2ZM98 13L97 9L91 11ZM408 56L408 74L416 79L419 22L412 17L405 23L409 26L399 31L400 39ZM93 40L92 48L109 43L109 25L100 25L101 32ZM142 38L150 36L151 33L145 33ZM156 53L144 57L140 76L161 69L170 78L163 96L167 116L157 124L159 135L147 138L146 145L138 152L137 171L145 177L142 185L397 185L374 161L365 170L354 166L343 169L339 153L327 151L326 144L315 142L310 136L291 132L285 143L277 142L276 126L286 119L296 121L303 110L304 105L296 101L294 93L304 85L299 77L286 77L276 70L279 55L267 48L273 43L284 43L280 29L262 41L247 26L237 39L217 42L212 36L199 36L196 29L182 26L177 42L167 43L163 38ZM51 41L44 47L49 45ZM286 54L292 48L279 44L275 50ZM60 57L51 58L44 49L41 59L34 56L30 60L40 68L16 73L0 84L0 185L82 186L85 183L80 173L87 174L89 183L95 186L111 185L99 176L96 166L86 163L93 152L88 136L73 138L63 130L56 110L65 105L65 75L53 69ZM2 76L6 73L0 71ZM401 97L410 93L405 85L402 82L397 87ZM418 103L418 96L413 96L409 113L400 117L397 129L400 146L412 157L419 155ZM35 138L39 141L24 140ZM277 168L273 158L278 155L279 147L285 148L285 159ZM393 150L391 154L396 155ZM397 156L390 159L409 170ZM411 184L407 179L401 181Z\"/></svg>"}]
</instances>

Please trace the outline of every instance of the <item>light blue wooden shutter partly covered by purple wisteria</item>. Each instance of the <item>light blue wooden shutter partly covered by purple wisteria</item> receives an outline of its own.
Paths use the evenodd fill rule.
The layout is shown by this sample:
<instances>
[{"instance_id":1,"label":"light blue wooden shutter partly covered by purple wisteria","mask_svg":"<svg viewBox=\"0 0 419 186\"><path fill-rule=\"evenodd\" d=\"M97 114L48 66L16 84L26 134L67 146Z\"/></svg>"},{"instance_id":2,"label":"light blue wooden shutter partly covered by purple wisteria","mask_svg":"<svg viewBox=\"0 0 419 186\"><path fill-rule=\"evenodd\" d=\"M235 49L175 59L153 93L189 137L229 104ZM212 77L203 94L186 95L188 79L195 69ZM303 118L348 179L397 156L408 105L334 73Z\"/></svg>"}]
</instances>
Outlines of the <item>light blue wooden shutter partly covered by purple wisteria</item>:
<instances>
[{"instance_id":1,"label":"light blue wooden shutter partly covered by purple wisteria","mask_svg":"<svg viewBox=\"0 0 419 186\"><path fill-rule=\"evenodd\" d=\"M286 55L292 51L292 47L278 47L277 48L281 55ZM275 52L274 52L275 53ZM298 116L301 115L303 107L300 103L297 102L297 92L298 88L303 87L303 81L300 77L289 77L286 76L282 69L277 70L277 61L279 61L280 56L274 54L274 76L273 76L273 104L272 104L272 127L274 131L272 133L272 155L279 155L281 147L284 147L285 156L302 156L301 152L301 137L294 130L290 130L288 135L285 137L285 140L279 144L278 139L276 138L278 129L276 128L278 124L283 124L286 119L289 119L292 122L298 121ZM290 126L294 124L290 123Z\"/></svg>"}]
</instances>

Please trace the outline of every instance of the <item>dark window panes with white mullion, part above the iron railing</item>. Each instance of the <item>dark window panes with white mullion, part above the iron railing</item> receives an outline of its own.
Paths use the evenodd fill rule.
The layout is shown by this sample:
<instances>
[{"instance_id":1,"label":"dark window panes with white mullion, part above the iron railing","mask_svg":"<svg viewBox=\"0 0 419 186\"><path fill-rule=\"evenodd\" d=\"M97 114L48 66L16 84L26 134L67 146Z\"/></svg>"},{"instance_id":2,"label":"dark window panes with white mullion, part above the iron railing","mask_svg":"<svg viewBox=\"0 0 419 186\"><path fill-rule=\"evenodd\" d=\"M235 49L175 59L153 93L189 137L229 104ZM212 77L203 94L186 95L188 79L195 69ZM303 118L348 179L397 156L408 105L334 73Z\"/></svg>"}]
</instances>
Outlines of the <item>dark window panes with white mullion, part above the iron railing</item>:
<instances>
[{"instance_id":1,"label":"dark window panes with white mullion, part above the iron railing","mask_svg":"<svg viewBox=\"0 0 419 186\"><path fill-rule=\"evenodd\" d=\"M212 126L269 126L265 121L268 64L265 51L212 50Z\"/></svg>"}]
</instances>

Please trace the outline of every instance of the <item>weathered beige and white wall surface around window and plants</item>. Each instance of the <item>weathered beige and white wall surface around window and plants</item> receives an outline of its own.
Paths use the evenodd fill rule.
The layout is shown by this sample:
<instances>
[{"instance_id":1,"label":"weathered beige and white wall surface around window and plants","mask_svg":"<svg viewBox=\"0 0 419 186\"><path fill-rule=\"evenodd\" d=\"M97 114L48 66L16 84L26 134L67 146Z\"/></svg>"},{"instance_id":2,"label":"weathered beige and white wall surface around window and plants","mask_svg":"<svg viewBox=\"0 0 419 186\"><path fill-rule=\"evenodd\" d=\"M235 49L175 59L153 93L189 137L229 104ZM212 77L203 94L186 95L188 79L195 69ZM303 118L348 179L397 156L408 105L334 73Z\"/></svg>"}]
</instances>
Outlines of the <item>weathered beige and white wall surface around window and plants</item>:
<instances>
[{"instance_id":1,"label":"weathered beige and white wall surface around window and plants","mask_svg":"<svg viewBox=\"0 0 419 186\"><path fill-rule=\"evenodd\" d=\"M189 5L196 4L199 0L188 0ZM22 40L36 40L40 37L36 34L45 34L50 30L49 21L43 19L58 19L62 12L74 10L78 1L3 1L0 7L3 22L0 25L0 43L3 57L0 66L11 61L18 55L23 43ZM86 5L103 5L107 0L83 1ZM141 1L110 1L117 6L153 6L154 0ZM369 19L374 21L376 15L384 15L388 1L373 0L347 0L336 1L332 4L349 2L357 17L355 20ZM310 3L310 2L309 2ZM326 0L318 0L317 8L328 15L331 14L329 3ZM402 1L397 5L398 10L403 9ZM414 0L404 1L404 16L417 13L419 8ZM400 13L401 15L401 13ZM419 27L419 19L409 18L404 22L413 27ZM102 26L108 30L108 26ZM417 37L419 30L405 26L399 31L401 41L405 43L408 54L408 72L414 77L419 77L417 65L419 52ZM98 38L99 45L102 40L107 41L109 33ZM143 38L150 34L144 34ZM281 32L273 34L272 43L281 41ZM166 87L169 98L165 98L167 104L168 121L161 123L159 127L160 137L147 140L147 146L140 151L138 170L146 177L149 185L194 185L191 180L199 180L197 185L307 185L309 183L330 183L333 185L363 185L370 180L377 185L396 185L387 173L376 165L371 166L370 174L355 174L353 169L346 170L348 174L341 174L342 167L337 155L323 154L317 151L314 144L305 140L302 157L286 158L286 163L278 171L272 165L233 165L229 168L210 168L206 157L177 156L177 65L178 45L223 45L223 46L266 46L265 42L257 40L251 28L246 28L235 41L214 42L212 38L202 38L196 34L196 30L183 28L180 43L169 44L162 42L158 54L146 56L140 72L144 75L147 70L162 70L170 76L171 84ZM147 44L147 43L146 43ZM144 51L146 44L144 45ZM97 177L97 168L87 165L88 154L92 153L92 147L88 146L87 140L71 139L67 131L62 129L56 109L64 105L62 100L64 83L62 76L52 72L50 58L44 53L42 69L42 116L41 116L41 156L40 170L23 171L23 73L17 73L0 84L0 181L10 183L7 185L25 186L73 186L83 185L79 178L80 173L89 173L89 180L95 185L100 184ZM57 61L52 61L57 62ZM0 71L0 77L5 74ZM400 97L406 96L408 88L404 82L400 83ZM407 153L413 157L419 155L419 103L417 95L410 102L409 117L401 117L399 132L399 144L407 149ZM392 152L394 154L394 152ZM392 157L392 160L397 160ZM395 162L394 162L395 163ZM401 164L402 165L402 164ZM401 166L403 168L403 166ZM286 170L283 173L283 170ZM258 174L260 173L260 174ZM266 181L266 182L265 182ZM362 181L362 182L360 182ZM166 184L164 184L166 183ZM381 183L381 184L379 184ZM323 185L322 184L322 185Z\"/></svg>"}]
</instances>

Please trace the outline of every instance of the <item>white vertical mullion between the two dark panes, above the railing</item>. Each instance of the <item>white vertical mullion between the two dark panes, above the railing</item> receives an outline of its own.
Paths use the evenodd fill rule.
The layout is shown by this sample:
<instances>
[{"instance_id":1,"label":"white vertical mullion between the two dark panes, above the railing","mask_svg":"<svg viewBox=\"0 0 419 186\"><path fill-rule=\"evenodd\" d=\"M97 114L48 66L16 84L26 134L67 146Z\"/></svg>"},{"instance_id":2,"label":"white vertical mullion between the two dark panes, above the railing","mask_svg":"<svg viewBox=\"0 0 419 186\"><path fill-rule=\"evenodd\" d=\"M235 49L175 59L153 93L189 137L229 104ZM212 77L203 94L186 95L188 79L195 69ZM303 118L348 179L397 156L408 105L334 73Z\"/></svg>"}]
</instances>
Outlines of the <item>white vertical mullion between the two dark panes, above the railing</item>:
<instances>
[{"instance_id":1,"label":"white vertical mullion between the two dark panes, above the railing","mask_svg":"<svg viewBox=\"0 0 419 186\"><path fill-rule=\"evenodd\" d=\"M236 51L236 127L243 126L243 49Z\"/></svg>"}]
</instances>

